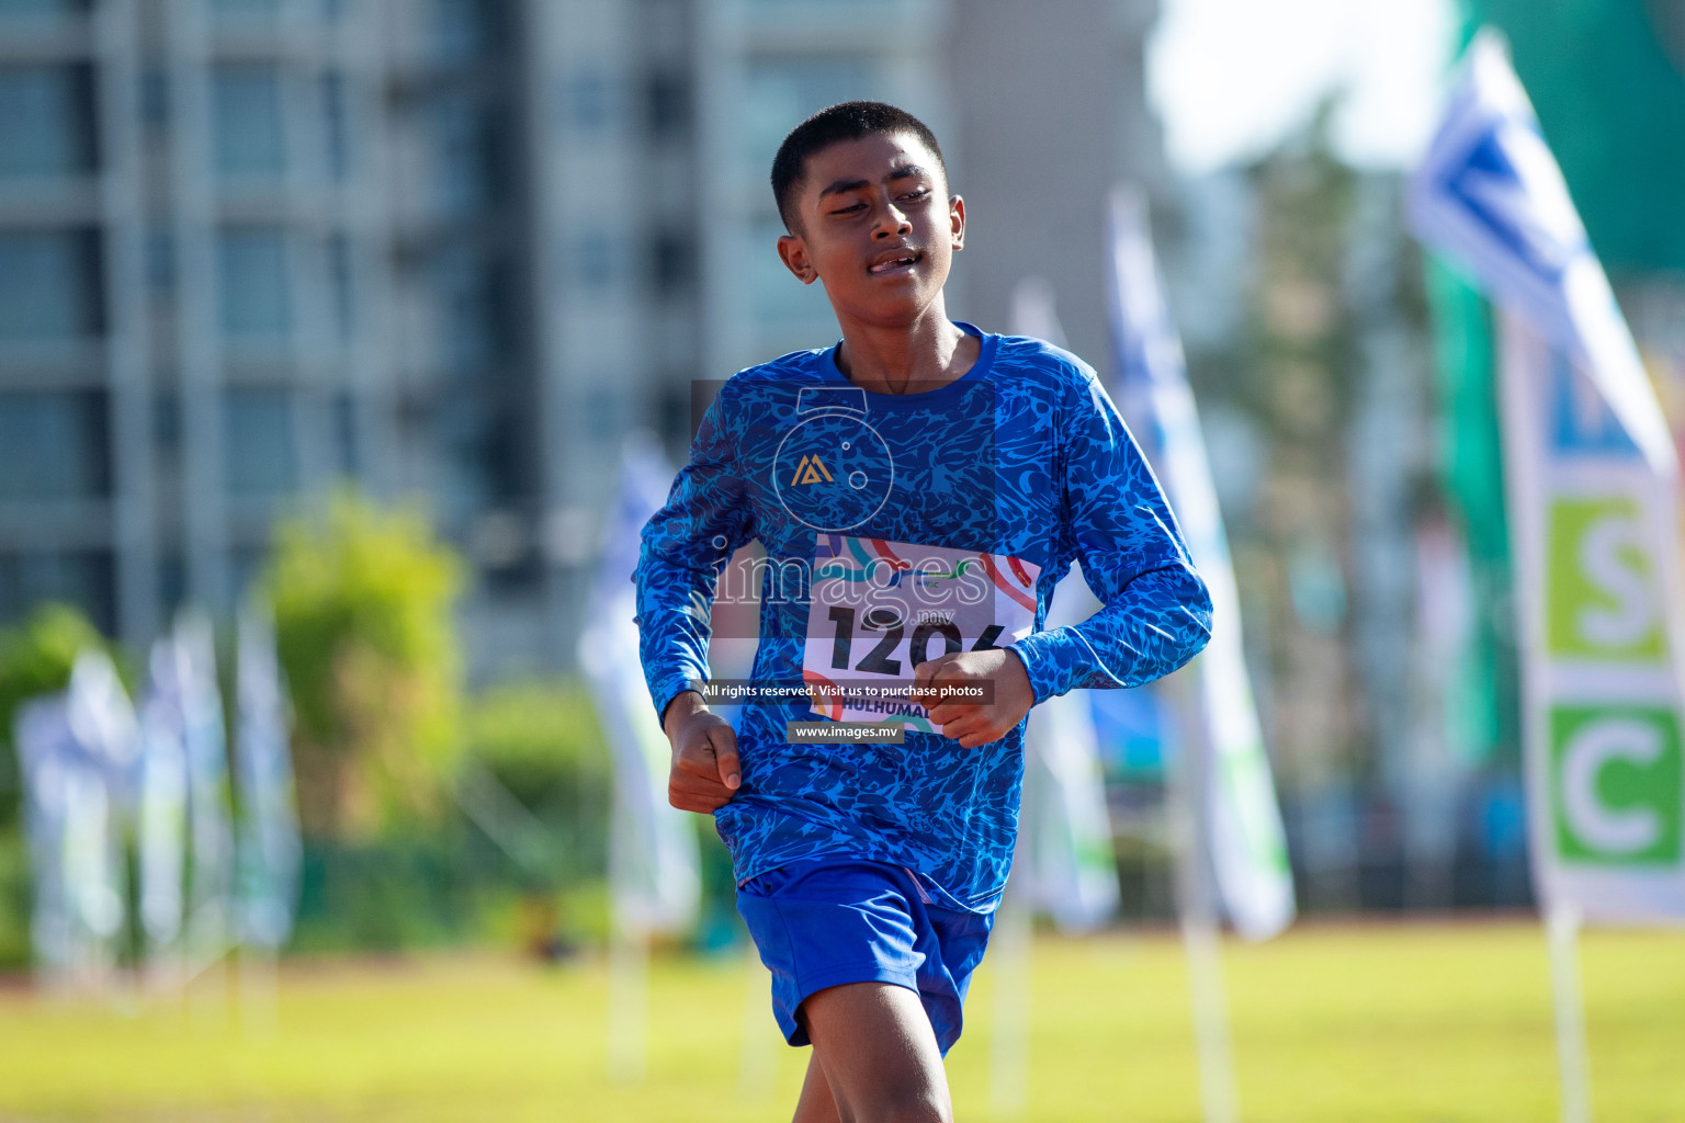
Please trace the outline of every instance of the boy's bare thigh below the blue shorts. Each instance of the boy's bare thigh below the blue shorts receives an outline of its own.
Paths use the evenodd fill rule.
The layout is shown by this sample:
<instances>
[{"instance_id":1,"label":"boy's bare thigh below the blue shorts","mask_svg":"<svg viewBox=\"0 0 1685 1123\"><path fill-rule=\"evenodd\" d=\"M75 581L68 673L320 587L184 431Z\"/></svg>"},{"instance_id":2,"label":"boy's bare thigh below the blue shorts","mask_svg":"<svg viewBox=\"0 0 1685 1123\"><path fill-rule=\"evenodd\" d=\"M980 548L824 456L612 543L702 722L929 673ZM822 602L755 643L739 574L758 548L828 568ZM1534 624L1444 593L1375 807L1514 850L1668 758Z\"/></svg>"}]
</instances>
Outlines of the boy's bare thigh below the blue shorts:
<instances>
[{"instance_id":1,"label":"boy's bare thigh below the blue shorts","mask_svg":"<svg viewBox=\"0 0 1685 1123\"><path fill-rule=\"evenodd\" d=\"M827 987L807 997L800 1020L842 1118L952 1118L942 1051L912 990Z\"/></svg>"}]
</instances>

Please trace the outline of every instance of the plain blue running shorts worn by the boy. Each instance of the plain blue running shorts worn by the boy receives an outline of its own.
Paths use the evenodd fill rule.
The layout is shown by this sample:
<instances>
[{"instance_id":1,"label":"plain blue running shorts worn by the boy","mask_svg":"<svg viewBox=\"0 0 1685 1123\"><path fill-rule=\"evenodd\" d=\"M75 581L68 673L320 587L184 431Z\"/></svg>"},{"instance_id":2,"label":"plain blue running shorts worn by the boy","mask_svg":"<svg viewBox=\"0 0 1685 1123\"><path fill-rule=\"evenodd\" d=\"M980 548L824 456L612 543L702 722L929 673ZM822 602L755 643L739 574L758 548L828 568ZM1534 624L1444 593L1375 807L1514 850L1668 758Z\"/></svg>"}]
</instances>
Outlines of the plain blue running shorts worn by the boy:
<instances>
[{"instance_id":1,"label":"plain blue running shorts worn by the boy","mask_svg":"<svg viewBox=\"0 0 1685 1123\"><path fill-rule=\"evenodd\" d=\"M772 1012L792 1046L809 1044L795 1015L810 993L878 982L918 995L944 1056L959 1041L960 1007L994 923L992 913L932 904L898 865L849 859L752 877L738 887L738 913L772 971Z\"/></svg>"}]
</instances>

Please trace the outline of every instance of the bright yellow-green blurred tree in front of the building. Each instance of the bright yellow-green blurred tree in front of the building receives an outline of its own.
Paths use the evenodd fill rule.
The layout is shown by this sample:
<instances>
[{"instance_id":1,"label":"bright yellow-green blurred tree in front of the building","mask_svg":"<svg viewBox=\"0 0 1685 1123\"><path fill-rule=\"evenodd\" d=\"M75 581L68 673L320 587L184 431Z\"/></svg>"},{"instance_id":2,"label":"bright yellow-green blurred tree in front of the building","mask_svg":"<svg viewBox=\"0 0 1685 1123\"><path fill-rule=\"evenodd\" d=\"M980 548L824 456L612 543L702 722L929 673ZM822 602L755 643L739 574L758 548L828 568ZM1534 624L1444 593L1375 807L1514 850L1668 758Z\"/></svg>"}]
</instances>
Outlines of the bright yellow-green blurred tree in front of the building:
<instances>
[{"instance_id":1,"label":"bright yellow-green blurred tree in front of the building","mask_svg":"<svg viewBox=\"0 0 1685 1123\"><path fill-rule=\"evenodd\" d=\"M428 818L457 751L462 564L415 507L354 490L276 525L263 584L295 709L305 832Z\"/></svg>"}]
</instances>

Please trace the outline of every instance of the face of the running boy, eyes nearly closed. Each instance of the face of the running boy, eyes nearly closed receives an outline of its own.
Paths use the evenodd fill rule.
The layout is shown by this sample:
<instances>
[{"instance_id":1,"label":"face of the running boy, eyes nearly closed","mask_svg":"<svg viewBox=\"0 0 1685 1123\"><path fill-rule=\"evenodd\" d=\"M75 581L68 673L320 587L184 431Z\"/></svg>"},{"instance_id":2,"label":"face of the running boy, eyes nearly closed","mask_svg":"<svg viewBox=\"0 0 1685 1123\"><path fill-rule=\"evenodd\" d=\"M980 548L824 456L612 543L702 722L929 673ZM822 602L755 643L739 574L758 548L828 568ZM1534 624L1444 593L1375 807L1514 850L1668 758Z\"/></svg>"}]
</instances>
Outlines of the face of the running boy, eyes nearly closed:
<instances>
[{"instance_id":1,"label":"face of the running boy, eyes nearly closed","mask_svg":"<svg viewBox=\"0 0 1685 1123\"><path fill-rule=\"evenodd\" d=\"M912 323L942 295L966 244L966 202L947 194L935 155L912 133L869 133L807 158L795 232L778 256L819 279L839 320Z\"/></svg>"}]
</instances>

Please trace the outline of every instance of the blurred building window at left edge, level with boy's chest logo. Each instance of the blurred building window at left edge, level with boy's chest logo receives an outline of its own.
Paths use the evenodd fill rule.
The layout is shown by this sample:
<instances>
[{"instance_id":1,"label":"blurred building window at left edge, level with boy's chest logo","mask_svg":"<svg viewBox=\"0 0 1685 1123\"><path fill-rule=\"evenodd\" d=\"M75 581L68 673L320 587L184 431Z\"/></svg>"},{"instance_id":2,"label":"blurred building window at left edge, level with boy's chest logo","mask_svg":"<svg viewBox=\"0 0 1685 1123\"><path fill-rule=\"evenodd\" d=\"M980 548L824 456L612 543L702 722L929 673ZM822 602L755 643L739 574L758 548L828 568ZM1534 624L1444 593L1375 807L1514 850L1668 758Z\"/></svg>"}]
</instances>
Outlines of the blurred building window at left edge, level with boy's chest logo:
<instances>
[{"instance_id":1,"label":"blurred building window at left edge, level with boy's chest logo","mask_svg":"<svg viewBox=\"0 0 1685 1123\"><path fill-rule=\"evenodd\" d=\"M104 401L93 391L0 394L0 502L108 495Z\"/></svg>"}]
</instances>

